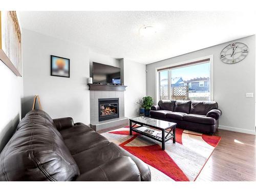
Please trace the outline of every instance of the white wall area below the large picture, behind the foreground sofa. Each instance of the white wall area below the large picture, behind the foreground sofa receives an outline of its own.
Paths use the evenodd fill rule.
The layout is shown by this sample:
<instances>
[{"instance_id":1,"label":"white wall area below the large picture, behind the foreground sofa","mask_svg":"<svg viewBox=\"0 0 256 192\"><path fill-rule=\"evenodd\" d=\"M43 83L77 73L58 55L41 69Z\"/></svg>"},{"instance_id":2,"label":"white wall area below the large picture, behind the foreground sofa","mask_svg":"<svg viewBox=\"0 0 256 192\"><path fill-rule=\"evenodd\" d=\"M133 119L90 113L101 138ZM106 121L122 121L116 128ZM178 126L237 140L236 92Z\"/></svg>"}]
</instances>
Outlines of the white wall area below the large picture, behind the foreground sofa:
<instances>
[{"instance_id":1,"label":"white wall area below the large picture, behind the foreground sofa","mask_svg":"<svg viewBox=\"0 0 256 192\"><path fill-rule=\"evenodd\" d=\"M0 153L12 136L22 114L23 78L0 60Z\"/></svg>"}]
</instances>

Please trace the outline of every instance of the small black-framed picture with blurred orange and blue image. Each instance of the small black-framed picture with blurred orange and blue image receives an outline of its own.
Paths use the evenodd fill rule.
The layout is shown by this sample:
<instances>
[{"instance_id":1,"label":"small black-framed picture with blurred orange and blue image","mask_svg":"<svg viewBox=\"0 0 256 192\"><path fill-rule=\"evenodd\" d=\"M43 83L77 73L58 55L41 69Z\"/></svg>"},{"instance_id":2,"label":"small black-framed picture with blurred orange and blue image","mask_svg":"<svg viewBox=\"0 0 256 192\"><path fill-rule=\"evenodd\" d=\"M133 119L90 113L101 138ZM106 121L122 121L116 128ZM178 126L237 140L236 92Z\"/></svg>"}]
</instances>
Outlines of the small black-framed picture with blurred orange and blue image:
<instances>
[{"instance_id":1,"label":"small black-framed picture with blurred orange and blue image","mask_svg":"<svg viewBox=\"0 0 256 192\"><path fill-rule=\"evenodd\" d=\"M51 76L70 77L70 60L51 55Z\"/></svg>"}]
</instances>

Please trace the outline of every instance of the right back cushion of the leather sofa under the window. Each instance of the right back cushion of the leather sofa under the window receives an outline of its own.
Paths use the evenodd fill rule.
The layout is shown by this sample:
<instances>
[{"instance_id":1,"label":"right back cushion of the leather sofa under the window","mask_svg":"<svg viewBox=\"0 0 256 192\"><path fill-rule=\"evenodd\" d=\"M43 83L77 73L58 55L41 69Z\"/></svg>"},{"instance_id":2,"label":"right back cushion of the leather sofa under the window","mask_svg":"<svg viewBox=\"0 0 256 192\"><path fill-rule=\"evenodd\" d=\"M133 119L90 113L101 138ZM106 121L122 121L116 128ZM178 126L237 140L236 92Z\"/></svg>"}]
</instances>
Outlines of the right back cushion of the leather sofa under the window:
<instances>
[{"instance_id":1,"label":"right back cushion of the leather sofa under the window","mask_svg":"<svg viewBox=\"0 0 256 192\"><path fill-rule=\"evenodd\" d=\"M191 101L191 114L206 115L214 109L218 109L216 101Z\"/></svg>"}]
</instances>

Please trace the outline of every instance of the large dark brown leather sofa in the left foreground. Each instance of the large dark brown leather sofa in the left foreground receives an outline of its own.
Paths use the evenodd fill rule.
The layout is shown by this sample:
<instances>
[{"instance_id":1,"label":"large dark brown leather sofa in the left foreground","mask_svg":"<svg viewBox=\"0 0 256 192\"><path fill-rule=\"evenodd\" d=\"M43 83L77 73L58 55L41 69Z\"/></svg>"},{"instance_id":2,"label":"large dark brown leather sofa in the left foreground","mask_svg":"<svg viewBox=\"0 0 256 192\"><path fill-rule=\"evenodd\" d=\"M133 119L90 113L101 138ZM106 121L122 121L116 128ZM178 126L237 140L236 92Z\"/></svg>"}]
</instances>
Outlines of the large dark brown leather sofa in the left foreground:
<instances>
[{"instance_id":1,"label":"large dark brown leather sofa in the left foreground","mask_svg":"<svg viewBox=\"0 0 256 192\"><path fill-rule=\"evenodd\" d=\"M0 154L0 181L150 181L148 166L73 119L30 111Z\"/></svg>"}]
</instances>

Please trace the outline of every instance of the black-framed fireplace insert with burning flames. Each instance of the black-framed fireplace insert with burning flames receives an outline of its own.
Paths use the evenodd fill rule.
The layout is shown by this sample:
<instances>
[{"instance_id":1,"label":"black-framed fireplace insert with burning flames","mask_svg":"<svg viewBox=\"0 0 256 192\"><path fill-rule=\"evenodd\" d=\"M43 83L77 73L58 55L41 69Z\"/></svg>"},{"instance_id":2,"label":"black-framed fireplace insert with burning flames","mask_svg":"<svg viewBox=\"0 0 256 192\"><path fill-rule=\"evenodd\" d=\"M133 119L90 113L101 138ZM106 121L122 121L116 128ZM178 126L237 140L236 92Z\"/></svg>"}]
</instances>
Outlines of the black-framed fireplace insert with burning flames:
<instances>
[{"instance_id":1,"label":"black-framed fireplace insert with burning flames","mask_svg":"<svg viewBox=\"0 0 256 192\"><path fill-rule=\"evenodd\" d=\"M119 117L119 99L107 98L99 99L99 121L114 119Z\"/></svg>"}]
</instances>

